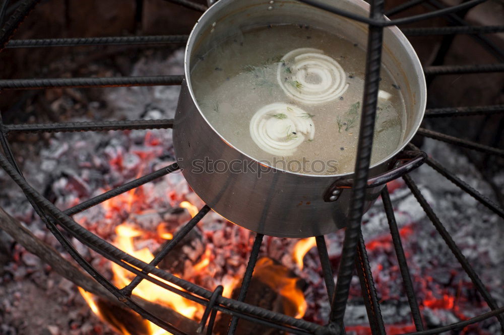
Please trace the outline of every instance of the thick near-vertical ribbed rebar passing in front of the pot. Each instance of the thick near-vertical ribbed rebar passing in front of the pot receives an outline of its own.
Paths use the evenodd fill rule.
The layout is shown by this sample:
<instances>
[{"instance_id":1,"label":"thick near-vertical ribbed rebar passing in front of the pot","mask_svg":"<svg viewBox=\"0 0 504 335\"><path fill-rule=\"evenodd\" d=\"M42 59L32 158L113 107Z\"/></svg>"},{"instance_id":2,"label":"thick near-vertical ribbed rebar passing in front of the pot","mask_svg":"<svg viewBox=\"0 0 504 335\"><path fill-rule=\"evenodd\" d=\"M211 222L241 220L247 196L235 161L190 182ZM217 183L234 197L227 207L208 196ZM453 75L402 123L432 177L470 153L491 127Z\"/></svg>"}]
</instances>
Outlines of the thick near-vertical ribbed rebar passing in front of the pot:
<instances>
[{"instance_id":1,"label":"thick near-vertical ribbed rebar passing in front of the pot","mask_svg":"<svg viewBox=\"0 0 504 335\"><path fill-rule=\"evenodd\" d=\"M372 0L370 6L369 17L372 19L381 19L383 17L384 0ZM377 95L380 86L382 42L383 28L370 26L367 40L362 116L354 170L354 187L352 188L352 195L350 198L349 222L343 241L341 261L338 269L338 281L336 282L336 290L331 305L331 321L338 325L343 324L343 316L345 315L350 283L355 266L360 224L364 212L371 147L374 135Z\"/></svg>"}]
</instances>

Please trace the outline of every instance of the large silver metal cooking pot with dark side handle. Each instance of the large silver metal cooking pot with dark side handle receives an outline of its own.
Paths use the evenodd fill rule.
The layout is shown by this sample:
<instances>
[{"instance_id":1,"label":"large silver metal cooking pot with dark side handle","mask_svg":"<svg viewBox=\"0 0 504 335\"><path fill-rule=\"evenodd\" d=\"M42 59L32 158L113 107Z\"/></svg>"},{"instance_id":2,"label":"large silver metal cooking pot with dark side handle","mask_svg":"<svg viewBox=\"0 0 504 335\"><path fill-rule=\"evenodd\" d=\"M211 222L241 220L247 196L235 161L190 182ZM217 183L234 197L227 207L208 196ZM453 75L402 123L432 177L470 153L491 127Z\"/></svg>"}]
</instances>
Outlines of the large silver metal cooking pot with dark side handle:
<instances>
[{"instance_id":1,"label":"large silver metal cooking pot with dark side handle","mask_svg":"<svg viewBox=\"0 0 504 335\"><path fill-rule=\"evenodd\" d=\"M334 4L331 0L322 3ZM368 16L362 0L340 0L346 11ZM346 225L352 173L315 176L277 170L228 143L200 111L191 85L191 69L198 56L238 31L269 24L303 24L366 45L367 25L292 0L220 0L198 21L185 51L182 84L173 126L175 154L194 191L213 210L249 230L279 237L326 234ZM385 183L413 169L423 153L401 152L416 133L425 112L426 86L420 61L397 27L384 31L382 62L402 88L406 105L406 132L401 145L370 168L366 210ZM400 153L400 156L397 154ZM247 171L209 171L195 160L247 162ZM398 160L409 162L398 165ZM393 170L391 170L393 169Z\"/></svg>"}]
</instances>

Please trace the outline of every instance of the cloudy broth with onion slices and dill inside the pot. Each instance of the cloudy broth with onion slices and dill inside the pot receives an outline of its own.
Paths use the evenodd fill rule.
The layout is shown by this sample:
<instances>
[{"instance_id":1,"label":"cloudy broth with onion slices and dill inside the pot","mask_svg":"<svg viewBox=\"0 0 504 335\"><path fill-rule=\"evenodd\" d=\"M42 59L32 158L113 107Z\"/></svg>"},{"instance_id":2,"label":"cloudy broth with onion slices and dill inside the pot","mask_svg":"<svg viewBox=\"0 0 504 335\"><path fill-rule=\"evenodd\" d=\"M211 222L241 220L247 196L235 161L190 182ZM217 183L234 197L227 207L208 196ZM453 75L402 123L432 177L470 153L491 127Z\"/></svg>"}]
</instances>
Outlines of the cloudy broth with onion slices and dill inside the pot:
<instances>
[{"instance_id":1,"label":"cloudy broth with onion slices and dill inside the pot","mask_svg":"<svg viewBox=\"0 0 504 335\"><path fill-rule=\"evenodd\" d=\"M199 55L193 92L208 122L231 145L264 164L308 175L354 169L365 51L308 26L236 34ZM403 140L401 88L383 66L371 164Z\"/></svg>"}]
</instances>

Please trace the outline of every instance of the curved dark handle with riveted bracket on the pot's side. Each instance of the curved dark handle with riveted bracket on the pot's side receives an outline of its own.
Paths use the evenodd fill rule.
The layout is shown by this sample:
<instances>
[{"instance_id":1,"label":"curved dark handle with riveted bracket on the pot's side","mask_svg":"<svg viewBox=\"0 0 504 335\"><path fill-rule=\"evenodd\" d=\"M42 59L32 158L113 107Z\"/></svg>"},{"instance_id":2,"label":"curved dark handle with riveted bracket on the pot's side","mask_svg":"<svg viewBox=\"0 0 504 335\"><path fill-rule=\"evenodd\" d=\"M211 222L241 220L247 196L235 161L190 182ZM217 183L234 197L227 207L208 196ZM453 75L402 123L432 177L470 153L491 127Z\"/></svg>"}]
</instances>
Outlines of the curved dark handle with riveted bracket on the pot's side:
<instances>
[{"instance_id":1,"label":"curved dark handle with riveted bracket on the pot's side","mask_svg":"<svg viewBox=\"0 0 504 335\"><path fill-rule=\"evenodd\" d=\"M399 152L393 160L394 169L367 180L367 188L378 187L387 184L407 173L415 170L427 159L427 154L420 150L404 150ZM402 162L402 164L401 164ZM333 202L339 199L344 189L353 186L353 179L339 179L335 181L324 194L325 202Z\"/></svg>"}]
</instances>

